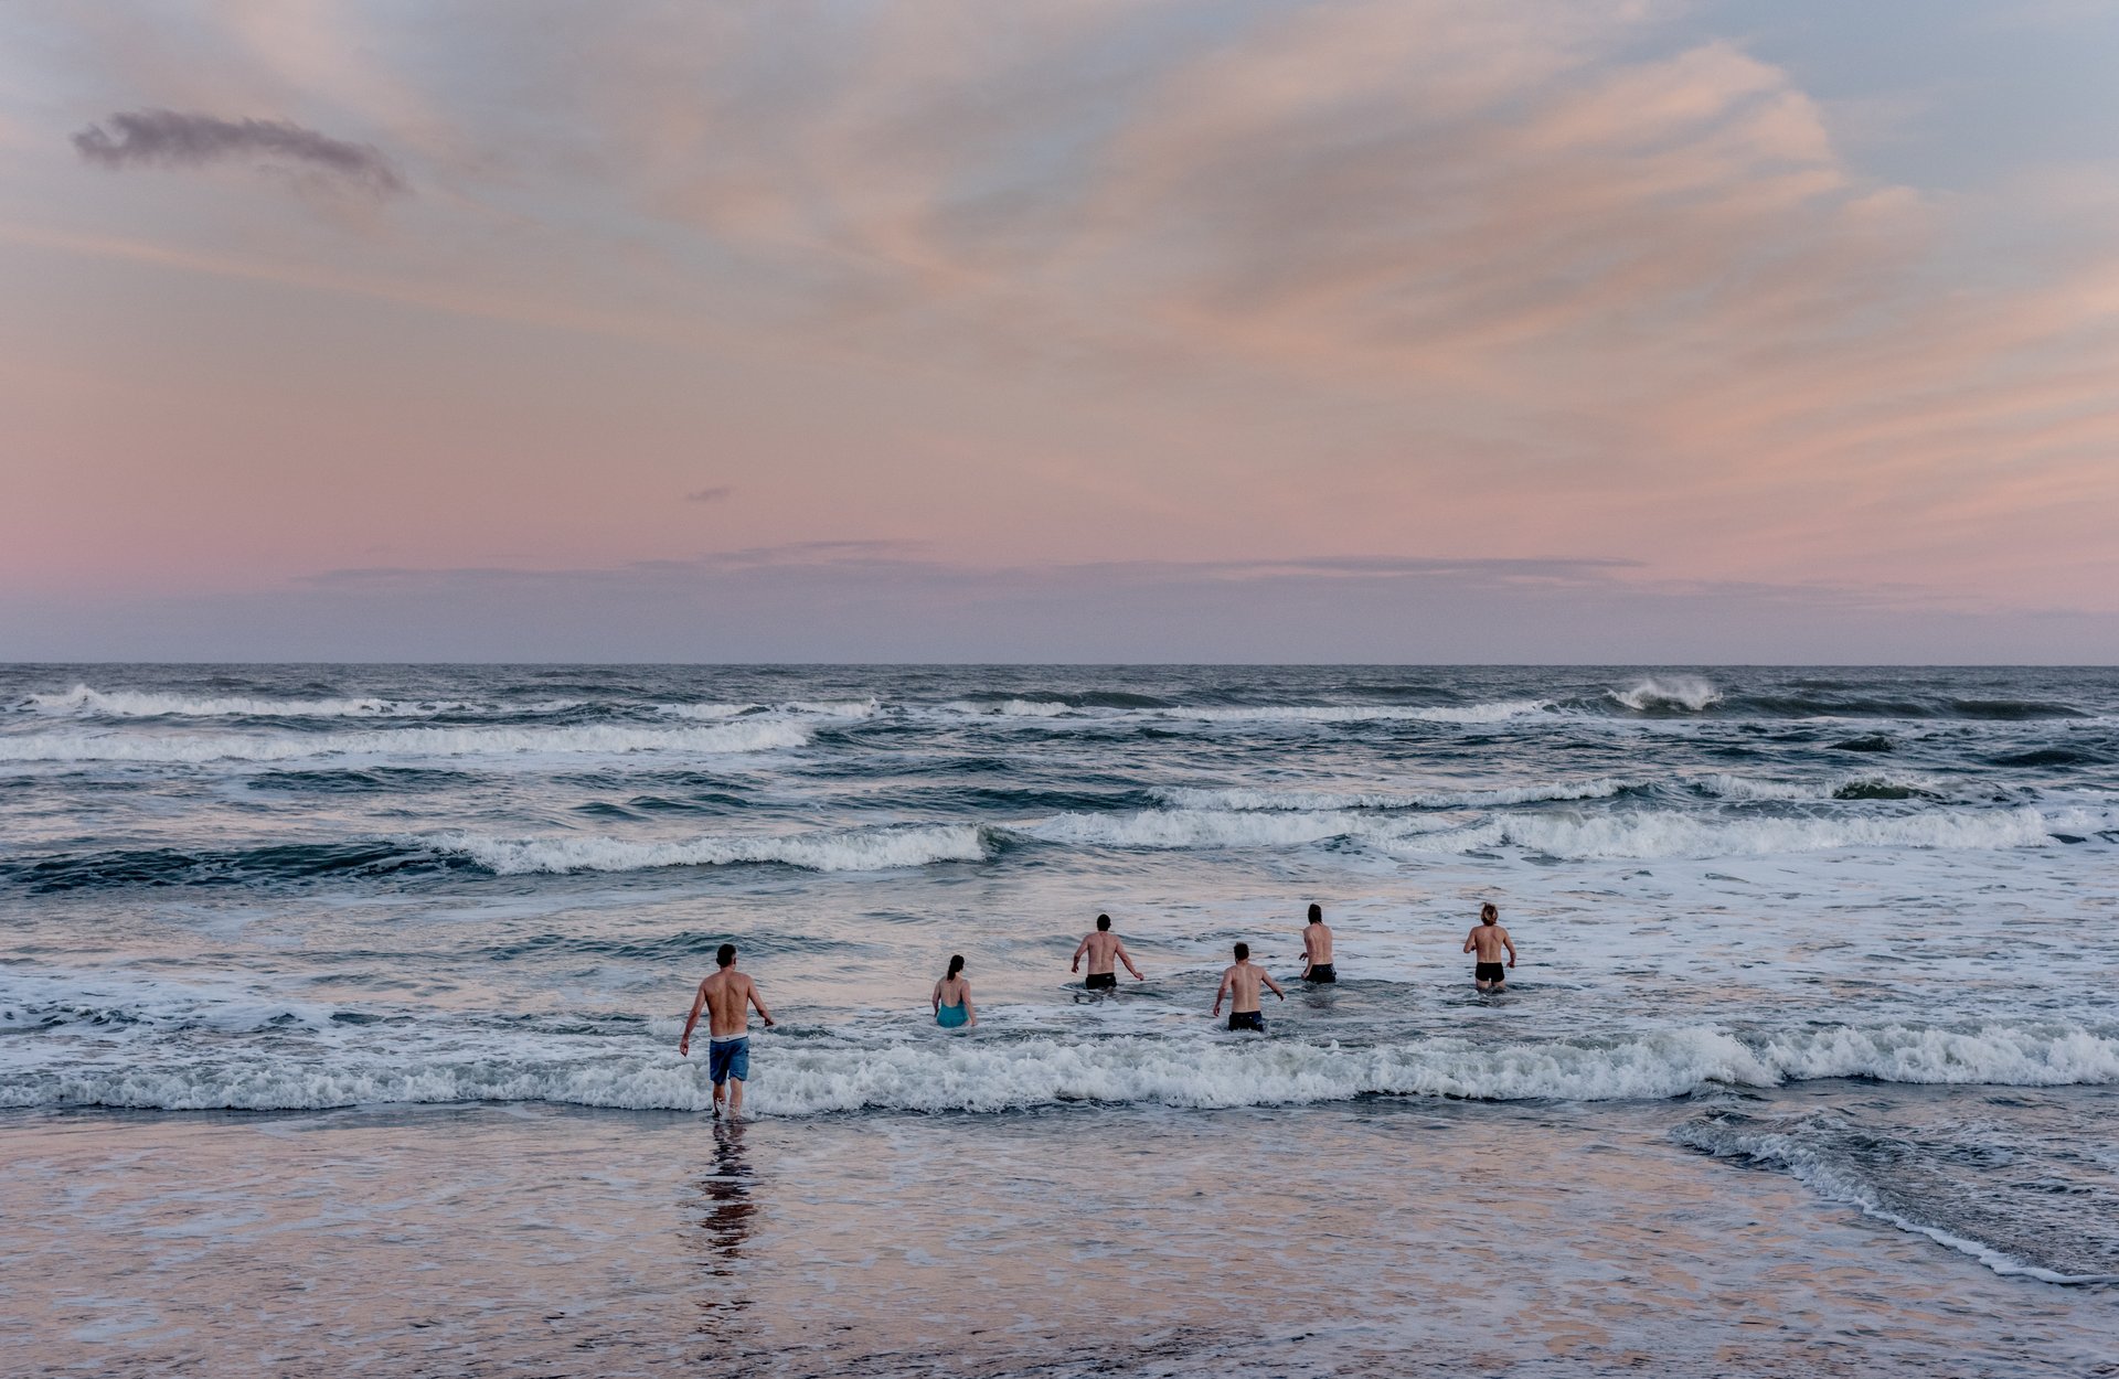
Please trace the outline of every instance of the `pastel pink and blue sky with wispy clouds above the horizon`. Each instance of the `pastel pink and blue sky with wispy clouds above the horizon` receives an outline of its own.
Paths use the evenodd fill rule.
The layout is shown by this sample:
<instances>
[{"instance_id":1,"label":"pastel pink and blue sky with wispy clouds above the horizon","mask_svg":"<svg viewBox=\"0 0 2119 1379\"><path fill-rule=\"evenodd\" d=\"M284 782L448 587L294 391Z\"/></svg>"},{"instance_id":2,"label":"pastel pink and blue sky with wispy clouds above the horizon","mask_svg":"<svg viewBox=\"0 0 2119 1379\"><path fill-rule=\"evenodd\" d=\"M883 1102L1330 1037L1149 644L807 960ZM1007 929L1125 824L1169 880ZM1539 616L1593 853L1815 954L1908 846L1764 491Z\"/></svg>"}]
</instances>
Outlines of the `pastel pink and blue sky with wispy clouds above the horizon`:
<instances>
[{"instance_id":1,"label":"pastel pink and blue sky with wispy clouds above the horizon","mask_svg":"<svg viewBox=\"0 0 2119 1379\"><path fill-rule=\"evenodd\" d=\"M13 0L0 661L2119 661L2119 6Z\"/></svg>"}]
</instances>

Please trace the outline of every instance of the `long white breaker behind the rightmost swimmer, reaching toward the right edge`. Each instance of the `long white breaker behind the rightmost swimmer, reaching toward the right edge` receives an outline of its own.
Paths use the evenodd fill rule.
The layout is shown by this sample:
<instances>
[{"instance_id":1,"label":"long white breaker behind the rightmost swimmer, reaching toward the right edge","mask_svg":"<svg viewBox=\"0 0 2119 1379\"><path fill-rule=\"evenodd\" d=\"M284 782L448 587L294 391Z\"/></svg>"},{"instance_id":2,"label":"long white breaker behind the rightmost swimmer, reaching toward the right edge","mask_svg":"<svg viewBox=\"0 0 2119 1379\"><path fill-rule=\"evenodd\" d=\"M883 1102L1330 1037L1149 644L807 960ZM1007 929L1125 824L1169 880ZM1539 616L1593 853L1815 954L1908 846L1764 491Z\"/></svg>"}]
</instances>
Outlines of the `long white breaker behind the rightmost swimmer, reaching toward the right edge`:
<instances>
[{"instance_id":1,"label":"long white breaker behind the rightmost swimmer, reaching toward the right edge","mask_svg":"<svg viewBox=\"0 0 2119 1379\"><path fill-rule=\"evenodd\" d=\"M1638 809L1596 816L1530 813L1485 820L1468 828L1390 839L1388 852L1485 852L1515 845L1570 858L1733 858L1848 847L2002 849L2045 847L2058 830L2102 832L2108 811L2064 809L2053 816L2017 809L1933 809L1886 818L1697 818Z\"/></svg>"}]
</instances>

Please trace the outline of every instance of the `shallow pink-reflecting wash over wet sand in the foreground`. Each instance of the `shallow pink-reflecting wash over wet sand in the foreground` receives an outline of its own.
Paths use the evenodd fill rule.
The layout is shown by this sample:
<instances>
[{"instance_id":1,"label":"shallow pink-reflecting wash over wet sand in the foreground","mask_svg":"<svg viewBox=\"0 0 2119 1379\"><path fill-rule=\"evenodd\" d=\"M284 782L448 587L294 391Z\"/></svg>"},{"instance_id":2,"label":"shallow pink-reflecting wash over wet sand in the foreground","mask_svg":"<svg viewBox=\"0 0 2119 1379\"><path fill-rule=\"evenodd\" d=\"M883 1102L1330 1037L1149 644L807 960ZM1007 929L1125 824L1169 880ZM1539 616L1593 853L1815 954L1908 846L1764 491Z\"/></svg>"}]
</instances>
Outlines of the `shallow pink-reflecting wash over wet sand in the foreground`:
<instances>
[{"instance_id":1,"label":"shallow pink-reflecting wash over wet sand in the foreground","mask_svg":"<svg viewBox=\"0 0 2119 1379\"><path fill-rule=\"evenodd\" d=\"M8 1112L0 1371L2119 1373L1687 1110Z\"/></svg>"}]
</instances>

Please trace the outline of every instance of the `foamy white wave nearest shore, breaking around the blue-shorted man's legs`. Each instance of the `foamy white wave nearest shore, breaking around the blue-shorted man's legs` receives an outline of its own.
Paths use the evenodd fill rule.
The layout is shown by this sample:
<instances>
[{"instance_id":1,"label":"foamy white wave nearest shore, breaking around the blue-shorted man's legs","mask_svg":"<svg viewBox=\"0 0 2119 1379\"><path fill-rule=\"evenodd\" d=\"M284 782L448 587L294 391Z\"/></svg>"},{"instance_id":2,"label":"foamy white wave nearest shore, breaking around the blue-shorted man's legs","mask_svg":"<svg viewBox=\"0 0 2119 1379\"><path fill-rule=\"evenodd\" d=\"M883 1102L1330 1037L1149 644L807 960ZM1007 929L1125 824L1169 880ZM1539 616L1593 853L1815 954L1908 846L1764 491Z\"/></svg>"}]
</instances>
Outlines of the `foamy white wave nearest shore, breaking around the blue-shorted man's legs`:
<instances>
[{"instance_id":1,"label":"foamy white wave nearest shore, breaking around the blue-shorted man's legs","mask_svg":"<svg viewBox=\"0 0 2119 1379\"><path fill-rule=\"evenodd\" d=\"M250 1019L246 1013L244 1019ZM314 1110L398 1102L562 1102L631 1110L706 1110L706 1059L638 1046L642 1036L523 1036L477 1055L462 1040L422 1055L413 1034L360 1044L335 1032L314 1057L176 1059L159 1044L108 1063L0 1070L0 1106L165 1110ZM1007 1112L1066 1102L1172 1108L1301 1106L1363 1095L1481 1102L1668 1099L1716 1087L1778 1087L1812 1076L2022 1087L2119 1082L2119 1040L2081 1027L1935 1029L1886 1025L1746 1036L1723 1027L1653 1029L1606 1040L1479 1044L1428 1038L1343 1046L1303 1038L1117 1036L1064 1040L990 1032L968 1040L848 1042L759 1036L750 1104L765 1114Z\"/></svg>"}]
</instances>

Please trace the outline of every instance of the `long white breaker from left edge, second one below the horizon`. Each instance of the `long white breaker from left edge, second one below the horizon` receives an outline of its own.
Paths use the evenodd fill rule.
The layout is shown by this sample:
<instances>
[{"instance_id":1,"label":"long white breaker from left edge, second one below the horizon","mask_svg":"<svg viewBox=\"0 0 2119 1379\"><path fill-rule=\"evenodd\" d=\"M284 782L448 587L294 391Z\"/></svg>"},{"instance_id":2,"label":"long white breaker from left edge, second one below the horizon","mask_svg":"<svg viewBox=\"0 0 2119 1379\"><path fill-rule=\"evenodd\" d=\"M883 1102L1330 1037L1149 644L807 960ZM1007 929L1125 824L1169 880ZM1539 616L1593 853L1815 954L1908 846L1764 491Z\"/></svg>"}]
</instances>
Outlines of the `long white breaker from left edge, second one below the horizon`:
<instances>
[{"instance_id":1,"label":"long white breaker from left edge, second one below the horizon","mask_svg":"<svg viewBox=\"0 0 2119 1379\"><path fill-rule=\"evenodd\" d=\"M0 760L208 763L297 760L305 756L521 756L625 752L769 752L799 748L809 729L786 720L725 722L701 729L589 724L566 729L388 729L367 733L15 733L0 737Z\"/></svg>"}]
</instances>

